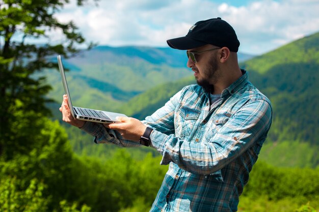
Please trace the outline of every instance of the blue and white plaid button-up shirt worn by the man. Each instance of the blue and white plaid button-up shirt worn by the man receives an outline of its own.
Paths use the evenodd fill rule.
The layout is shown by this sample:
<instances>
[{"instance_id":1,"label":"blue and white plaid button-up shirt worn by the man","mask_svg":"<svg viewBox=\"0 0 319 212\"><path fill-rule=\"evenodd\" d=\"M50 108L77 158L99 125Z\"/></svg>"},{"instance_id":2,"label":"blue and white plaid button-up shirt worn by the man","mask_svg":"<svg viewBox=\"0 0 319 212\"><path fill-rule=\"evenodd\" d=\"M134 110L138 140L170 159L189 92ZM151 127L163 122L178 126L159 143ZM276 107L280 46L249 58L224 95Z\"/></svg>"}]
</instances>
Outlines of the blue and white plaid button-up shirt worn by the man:
<instances>
[{"instance_id":1,"label":"blue and white plaid button-up shirt worn by the man","mask_svg":"<svg viewBox=\"0 0 319 212\"><path fill-rule=\"evenodd\" d=\"M154 129L151 146L161 164L169 164L151 211L237 211L272 120L269 99L242 72L211 110L209 94L189 85L143 121ZM97 143L139 145L99 124L82 129Z\"/></svg>"}]
</instances>

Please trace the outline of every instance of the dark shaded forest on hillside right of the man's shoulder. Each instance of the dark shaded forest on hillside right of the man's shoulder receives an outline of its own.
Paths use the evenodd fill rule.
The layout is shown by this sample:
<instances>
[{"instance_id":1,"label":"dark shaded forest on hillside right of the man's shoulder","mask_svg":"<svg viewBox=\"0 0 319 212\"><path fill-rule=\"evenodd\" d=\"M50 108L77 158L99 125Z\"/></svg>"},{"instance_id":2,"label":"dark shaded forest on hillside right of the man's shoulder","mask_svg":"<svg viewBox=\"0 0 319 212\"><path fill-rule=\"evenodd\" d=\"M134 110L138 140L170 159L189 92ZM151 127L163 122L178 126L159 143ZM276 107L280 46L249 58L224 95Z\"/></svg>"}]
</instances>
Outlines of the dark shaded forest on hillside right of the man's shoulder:
<instances>
[{"instance_id":1,"label":"dark shaded forest on hillside right of the man's shoulder","mask_svg":"<svg viewBox=\"0 0 319 212\"><path fill-rule=\"evenodd\" d=\"M251 81L273 104L272 141L295 140L318 145L319 114L317 85L319 64L284 64L267 74L250 72ZM317 160L313 164L318 164Z\"/></svg>"}]
</instances>

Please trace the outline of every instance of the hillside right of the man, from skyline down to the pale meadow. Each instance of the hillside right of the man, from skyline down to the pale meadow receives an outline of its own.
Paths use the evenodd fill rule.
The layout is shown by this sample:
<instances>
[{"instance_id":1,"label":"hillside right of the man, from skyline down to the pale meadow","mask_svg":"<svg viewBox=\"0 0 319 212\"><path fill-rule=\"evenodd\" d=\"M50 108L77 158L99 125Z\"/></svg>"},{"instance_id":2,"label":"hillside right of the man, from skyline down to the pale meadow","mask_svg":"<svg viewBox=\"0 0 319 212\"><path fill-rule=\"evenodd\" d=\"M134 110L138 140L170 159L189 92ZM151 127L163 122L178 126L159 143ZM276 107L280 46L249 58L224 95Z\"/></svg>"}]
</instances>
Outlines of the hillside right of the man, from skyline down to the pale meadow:
<instances>
[{"instance_id":1,"label":"hillside right of the man, from skyline down to the pale meadow","mask_svg":"<svg viewBox=\"0 0 319 212\"><path fill-rule=\"evenodd\" d=\"M272 140L319 145L319 33L242 66L251 70L251 81L272 100Z\"/></svg>"}]
</instances>

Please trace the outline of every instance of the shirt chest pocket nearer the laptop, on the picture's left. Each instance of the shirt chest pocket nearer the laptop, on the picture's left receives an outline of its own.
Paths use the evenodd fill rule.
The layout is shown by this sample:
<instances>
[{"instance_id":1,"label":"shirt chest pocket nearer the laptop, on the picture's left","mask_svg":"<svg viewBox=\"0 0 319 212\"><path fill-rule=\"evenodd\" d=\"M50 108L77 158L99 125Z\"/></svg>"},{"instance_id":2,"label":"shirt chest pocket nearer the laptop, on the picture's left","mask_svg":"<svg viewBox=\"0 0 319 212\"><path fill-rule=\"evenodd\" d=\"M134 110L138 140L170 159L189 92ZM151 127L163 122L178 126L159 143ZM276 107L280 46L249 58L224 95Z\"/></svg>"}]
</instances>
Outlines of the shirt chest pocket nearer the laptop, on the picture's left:
<instances>
[{"instance_id":1,"label":"shirt chest pocket nearer the laptop, on the picture's left","mask_svg":"<svg viewBox=\"0 0 319 212\"><path fill-rule=\"evenodd\" d=\"M191 134L192 129L199 118L200 112L198 110L183 106L179 109L178 113L179 115L175 130L179 137L188 136Z\"/></svg>"}]
</instances>

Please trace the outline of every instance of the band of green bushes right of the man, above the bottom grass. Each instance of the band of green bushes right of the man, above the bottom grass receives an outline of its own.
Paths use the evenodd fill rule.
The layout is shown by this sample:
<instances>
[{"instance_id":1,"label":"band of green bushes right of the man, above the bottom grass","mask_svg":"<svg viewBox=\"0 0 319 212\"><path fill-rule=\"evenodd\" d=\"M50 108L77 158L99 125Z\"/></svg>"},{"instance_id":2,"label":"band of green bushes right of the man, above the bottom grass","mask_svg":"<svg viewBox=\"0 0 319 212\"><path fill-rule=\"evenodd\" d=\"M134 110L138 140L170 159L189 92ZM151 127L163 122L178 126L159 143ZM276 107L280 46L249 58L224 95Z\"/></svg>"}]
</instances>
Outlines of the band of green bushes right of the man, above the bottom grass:
<instances>
[{"instance_id":1,"label":"band of green bushes right of the man, above the bottom grass","mask_svg":"<svg viewBox=\"0 0 319 212\"><path fill-rule=\"evenodd\" d=\"M268 196L270 200L285 197L319 198L319 169L277 168L258 162L255 164L244 195Z\"/></svg>"}]
</instances>

